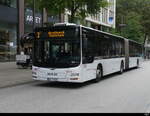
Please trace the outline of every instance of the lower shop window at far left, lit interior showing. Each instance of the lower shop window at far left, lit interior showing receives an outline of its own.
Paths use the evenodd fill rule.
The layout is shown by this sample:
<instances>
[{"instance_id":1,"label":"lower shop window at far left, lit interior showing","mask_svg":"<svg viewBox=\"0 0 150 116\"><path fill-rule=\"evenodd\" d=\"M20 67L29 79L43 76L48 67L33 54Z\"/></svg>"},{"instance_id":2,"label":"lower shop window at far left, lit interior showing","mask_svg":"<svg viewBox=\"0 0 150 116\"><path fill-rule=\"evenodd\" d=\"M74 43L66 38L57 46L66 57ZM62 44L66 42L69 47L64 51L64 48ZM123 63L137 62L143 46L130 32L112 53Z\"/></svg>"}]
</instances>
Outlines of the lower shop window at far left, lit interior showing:
<instances>
[{"instance_id":1,"label":"lower shop window at far left, lit interior showing","mask_svg":"<svg viewBox=\"0 0 150 116\"><path fill-rule=\"evenodd\" d=\"M17 49L17 26L0 23L0 62L15 61Z\"/></svg>"}]
</instances>

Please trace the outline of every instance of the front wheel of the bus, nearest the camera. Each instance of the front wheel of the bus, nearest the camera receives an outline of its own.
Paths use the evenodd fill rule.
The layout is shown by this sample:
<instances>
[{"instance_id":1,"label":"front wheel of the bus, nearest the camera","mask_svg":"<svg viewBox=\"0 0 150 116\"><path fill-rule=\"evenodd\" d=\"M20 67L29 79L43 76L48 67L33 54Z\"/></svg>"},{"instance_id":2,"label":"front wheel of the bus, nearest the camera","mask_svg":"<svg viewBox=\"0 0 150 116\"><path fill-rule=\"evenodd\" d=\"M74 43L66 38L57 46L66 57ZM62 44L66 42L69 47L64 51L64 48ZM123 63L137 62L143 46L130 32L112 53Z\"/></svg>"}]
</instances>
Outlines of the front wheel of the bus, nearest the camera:
<instances>
[{"instance_id":1,"label":"front wheel of the bus, nearest the camera","mask_svg":"<svg viewBox=\"0 0 150 116\"><path fill-rule=\"evenodd\" d=\"M103 77L103 69L102 66L98 66L96 70L96 79L94 80L95 83L100 82Z\"/></svg>"}]
</instances>

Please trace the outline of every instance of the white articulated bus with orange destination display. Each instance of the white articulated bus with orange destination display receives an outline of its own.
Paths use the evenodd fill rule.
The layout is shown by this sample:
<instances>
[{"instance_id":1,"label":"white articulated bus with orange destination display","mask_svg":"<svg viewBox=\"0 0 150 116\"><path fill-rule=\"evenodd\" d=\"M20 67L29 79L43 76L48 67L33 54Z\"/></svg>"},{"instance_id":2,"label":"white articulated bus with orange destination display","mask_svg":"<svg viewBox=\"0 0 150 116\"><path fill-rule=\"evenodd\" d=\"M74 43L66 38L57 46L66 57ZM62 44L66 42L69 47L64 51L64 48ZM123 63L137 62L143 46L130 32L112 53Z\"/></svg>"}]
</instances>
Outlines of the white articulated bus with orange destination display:
<instances>
[{"instance_id":1,"label":"white articulated bus with orange destination display","mask_svg":"<svg viewBox=\"0 0 150 116\"><path fill-rule=\"evenodd\" d=\"M92 28L60 24L35 29L35 80L83 83L139 67L142 45Z\"/></svg>"}]
</instances>

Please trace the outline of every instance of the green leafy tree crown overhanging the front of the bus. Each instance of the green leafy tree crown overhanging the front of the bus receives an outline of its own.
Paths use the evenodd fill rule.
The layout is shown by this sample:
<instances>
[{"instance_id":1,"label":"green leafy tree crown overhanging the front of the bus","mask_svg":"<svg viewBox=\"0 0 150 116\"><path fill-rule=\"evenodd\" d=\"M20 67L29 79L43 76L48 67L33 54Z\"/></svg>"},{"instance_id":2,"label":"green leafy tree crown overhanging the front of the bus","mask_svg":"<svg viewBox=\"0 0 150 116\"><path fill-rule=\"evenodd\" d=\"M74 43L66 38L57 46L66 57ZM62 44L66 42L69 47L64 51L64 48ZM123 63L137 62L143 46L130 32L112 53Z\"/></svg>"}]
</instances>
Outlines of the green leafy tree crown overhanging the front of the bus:
<instances>
[{"instance_id":1,"label":"green leafy tree crown overhanging the front of the bus","mask_svg":"<svg viewBox=\"0 0 150 116\"><path fill-rule=\"evenodd\" d=\"M101 7L107 5L106 0L41 0L41 7L47 9L51 14L61 14L65 9L70 11L70 22L75 22L76 18L84 19L89 14L97 14Z\"/></svg>"}]
</instances>

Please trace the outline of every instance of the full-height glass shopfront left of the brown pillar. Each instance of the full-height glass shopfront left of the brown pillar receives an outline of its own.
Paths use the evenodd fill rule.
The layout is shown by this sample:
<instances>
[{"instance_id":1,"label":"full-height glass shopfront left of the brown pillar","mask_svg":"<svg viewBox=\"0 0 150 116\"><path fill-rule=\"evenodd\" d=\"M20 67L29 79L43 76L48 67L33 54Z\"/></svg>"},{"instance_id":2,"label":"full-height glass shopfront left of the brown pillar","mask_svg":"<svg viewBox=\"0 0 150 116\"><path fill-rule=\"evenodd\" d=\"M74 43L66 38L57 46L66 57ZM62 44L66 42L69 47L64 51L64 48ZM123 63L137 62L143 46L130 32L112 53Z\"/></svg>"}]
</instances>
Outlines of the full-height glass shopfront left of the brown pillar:
<instances>
[{"instance_id":1,"label":"full-height glass shopfront left of the brown pillar","mask_svg":"<svg viewBox=\"0 0 150 116\"><path fill-rule=\"evenodd\" d=\"M0 1L0 62L15 61L17 51L17 0Z\"/></svg>"}]
</instances>

